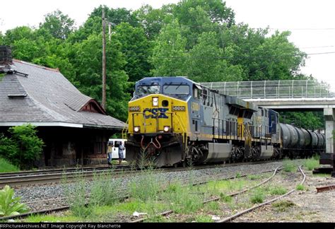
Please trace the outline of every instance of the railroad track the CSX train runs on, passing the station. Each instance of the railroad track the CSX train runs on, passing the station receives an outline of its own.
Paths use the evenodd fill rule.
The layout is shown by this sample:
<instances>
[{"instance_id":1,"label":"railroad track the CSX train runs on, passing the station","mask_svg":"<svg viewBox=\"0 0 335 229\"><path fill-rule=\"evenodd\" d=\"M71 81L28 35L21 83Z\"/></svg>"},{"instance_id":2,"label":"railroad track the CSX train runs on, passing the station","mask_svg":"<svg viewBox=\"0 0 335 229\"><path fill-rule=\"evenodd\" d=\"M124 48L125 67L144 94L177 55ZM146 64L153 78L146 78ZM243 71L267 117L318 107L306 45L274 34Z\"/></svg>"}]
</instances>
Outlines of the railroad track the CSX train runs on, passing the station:
<instances>
[{"instance_id":1,"label":"railroad track the CSX train runs on, passing the station","mask_svg":"<svg viewBox=\"0 0 335 229\"><path fill-rule=\"evenodd\" d=\"M259 163L273 163L275 160L256 161L249 163L232 163L232 164L221 164L221 165L198 165L192 169L201 170L205 168L221 168L231 167L238 165L256 165ZM159 168L165 172L178 172L189 170L190 168ZM11 187L20 187L23 185L35 185L35 184L50 184L59 183L66 177L67 181L73 181L78 179L78 175L91 179L95 175L110 171L112 175L132 175L135 174L139 168L131 168L130 165L123 165L118 167L92 167L92 168L69 168L69 169L57 169L57 170L37 170L37 171L25 171L25 172L6 172L0 173L0 188L5 185Z\"/></svg>"}]
</instances>

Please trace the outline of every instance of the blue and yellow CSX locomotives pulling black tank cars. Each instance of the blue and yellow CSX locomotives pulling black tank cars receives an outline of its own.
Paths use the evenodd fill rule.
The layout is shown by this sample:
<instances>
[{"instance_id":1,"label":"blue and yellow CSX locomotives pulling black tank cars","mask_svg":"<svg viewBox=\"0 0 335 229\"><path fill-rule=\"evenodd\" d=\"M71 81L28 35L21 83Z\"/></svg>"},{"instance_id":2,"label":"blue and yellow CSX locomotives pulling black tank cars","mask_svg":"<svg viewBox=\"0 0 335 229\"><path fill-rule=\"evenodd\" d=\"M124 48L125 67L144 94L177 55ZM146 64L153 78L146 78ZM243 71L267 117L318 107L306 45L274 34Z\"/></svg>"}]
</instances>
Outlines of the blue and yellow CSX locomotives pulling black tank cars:
<instances>
[{"instance_id":1,"label":"blue and yellow CSX locomotives pulling black tank cars","mask_svg":"<svg viewBox=\"0 0 335 229\"><path fill-rule=\"evenodd\" d=\"M184 77L143 78L129 102L127 158L158 166L266 160L323 150L324 136Z\"/></svg>"}]
</instances>

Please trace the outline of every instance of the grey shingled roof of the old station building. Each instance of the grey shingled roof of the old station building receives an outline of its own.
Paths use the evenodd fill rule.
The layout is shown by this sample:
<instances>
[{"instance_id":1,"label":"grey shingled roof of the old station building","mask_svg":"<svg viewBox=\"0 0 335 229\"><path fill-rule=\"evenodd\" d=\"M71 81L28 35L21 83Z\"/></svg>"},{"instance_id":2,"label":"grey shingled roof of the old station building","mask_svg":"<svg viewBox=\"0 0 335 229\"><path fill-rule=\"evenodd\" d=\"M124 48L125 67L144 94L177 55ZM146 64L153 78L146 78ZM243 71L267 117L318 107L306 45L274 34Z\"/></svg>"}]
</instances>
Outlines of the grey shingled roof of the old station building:
<instances>
[{"instance_id":1,"label":"grey shingled roof of the old station building","mask_svg":"<svg viewBox=\"0 0 335 229\"><path fill-rule=\"evenodd\" d=\"M98 112L83 111L92 103ZM13 60L0 77L0 126L122 129L124 122L105 115L98 102L83 95L58 69Z\"/></svg>"}]
</instances>

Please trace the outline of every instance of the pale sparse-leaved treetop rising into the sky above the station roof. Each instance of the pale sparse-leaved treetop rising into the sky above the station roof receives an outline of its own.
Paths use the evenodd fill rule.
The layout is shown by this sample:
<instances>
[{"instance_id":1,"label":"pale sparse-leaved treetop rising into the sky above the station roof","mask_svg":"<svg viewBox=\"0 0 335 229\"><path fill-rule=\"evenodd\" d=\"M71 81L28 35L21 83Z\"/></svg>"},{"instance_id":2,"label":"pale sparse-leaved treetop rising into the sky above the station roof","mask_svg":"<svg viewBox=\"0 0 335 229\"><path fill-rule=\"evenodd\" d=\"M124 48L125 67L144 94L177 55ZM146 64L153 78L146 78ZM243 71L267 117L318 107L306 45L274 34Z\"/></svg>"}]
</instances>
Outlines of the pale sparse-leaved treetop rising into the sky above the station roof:
<instances>
[{"instance_id":1,"label":"pale sparse-leaved treetop rising into the sky above the station roof","mask_svg":"<svg viewBox=\"0 0 335 229\"><path fill-rule=\"evenodd\" d=\"M74 31L74 20L57 9L45 15L45 22L40 23L40 28L44 28L57 39L66 40Z\"/></svg>"}]
</instances>

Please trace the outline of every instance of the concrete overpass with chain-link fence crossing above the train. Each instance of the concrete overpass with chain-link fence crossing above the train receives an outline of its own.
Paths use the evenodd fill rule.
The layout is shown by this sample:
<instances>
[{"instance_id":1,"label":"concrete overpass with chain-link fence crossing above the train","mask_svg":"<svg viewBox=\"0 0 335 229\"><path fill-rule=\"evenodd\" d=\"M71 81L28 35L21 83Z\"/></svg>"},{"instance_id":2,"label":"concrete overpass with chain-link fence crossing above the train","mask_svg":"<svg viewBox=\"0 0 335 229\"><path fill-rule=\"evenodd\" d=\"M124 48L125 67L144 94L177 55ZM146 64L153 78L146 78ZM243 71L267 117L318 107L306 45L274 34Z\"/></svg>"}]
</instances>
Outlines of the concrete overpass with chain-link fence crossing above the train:
<instances>
[{"instance_id":1,"label":"concrete overpass with chain-link fence crossing above the train","mask_svg":"<svg viewBox=\"0 0 335 229\"><path fill-rule=\"evenodd\" d=\"M335 81L237 81L201 83L224 95L277 111L323 110L326 119L326 151L334 153Z\"/></svg>"}]
</instances>

